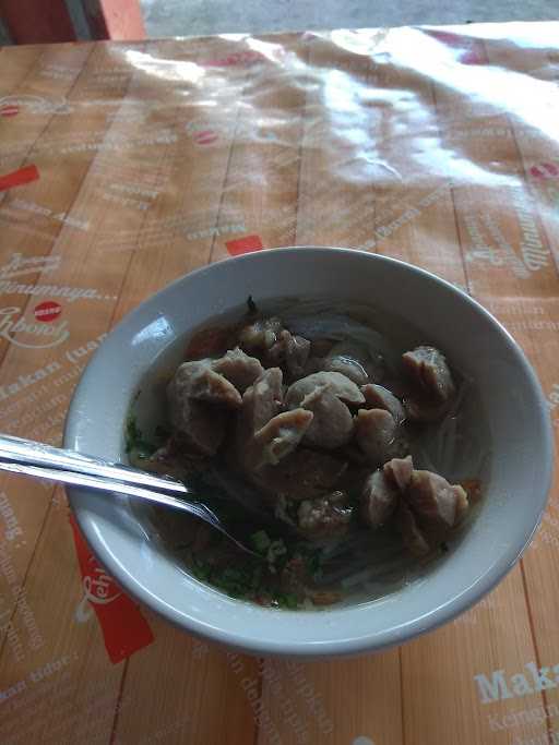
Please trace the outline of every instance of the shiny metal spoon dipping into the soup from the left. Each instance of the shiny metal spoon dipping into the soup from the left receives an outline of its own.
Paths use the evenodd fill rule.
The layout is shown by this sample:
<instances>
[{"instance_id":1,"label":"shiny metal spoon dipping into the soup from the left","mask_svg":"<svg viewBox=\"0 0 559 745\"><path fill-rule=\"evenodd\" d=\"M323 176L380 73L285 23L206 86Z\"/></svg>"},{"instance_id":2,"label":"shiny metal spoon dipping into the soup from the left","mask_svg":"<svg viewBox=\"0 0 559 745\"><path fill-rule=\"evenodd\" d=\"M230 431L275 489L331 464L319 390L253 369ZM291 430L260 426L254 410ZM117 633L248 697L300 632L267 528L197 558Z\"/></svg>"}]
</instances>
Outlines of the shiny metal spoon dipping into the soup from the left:
<instances>
[{"instance_id":1,"label":"shiny metal spoon dipping into the soup from the left","mask_svg":"<svg viewBox=\"0 0 559 745\"><path fill-rule=\"evenodd\" d=\"M236 538L213 509L197 500L194 490L170 477L154 476L122 464L7 434L0 435L0 470L117 492L182 509L219 530L242 551L262 558Z\"/></svg>"}]
</instances>

